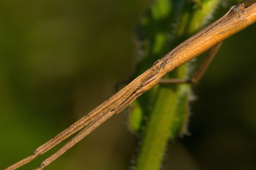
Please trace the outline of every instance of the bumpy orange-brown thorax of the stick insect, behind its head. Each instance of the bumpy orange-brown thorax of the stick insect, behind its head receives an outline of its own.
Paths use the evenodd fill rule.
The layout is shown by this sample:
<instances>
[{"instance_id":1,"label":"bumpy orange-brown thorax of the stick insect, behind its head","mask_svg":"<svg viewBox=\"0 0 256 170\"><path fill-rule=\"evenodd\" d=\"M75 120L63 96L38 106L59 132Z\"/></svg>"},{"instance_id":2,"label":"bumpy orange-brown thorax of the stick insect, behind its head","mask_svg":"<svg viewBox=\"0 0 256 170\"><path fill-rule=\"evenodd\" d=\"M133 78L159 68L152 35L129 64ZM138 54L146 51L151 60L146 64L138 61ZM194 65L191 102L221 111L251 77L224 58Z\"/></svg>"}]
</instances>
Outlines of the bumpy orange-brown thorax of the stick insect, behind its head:
<instances>
[{"instance_id":1,"label":"bumpy orange-brown thorax of the stick insect, behind its head","mask_svg":"<svg viewBox=\"0 0 256 170\"><path fill-rule=\"evenodd\" d=\"M204 28L162 57L159 61L166 63L166 66L161 67L162 70L159 71L158 77L161 79L175 68L187 63L231 35L245 29L255 21L255 3L248 8L245 8L243 4L232 7L221 19ZM155 64L159 63L159 61ZM154 65L152 69L154 69Z\"/></svg>"}]
</instances>

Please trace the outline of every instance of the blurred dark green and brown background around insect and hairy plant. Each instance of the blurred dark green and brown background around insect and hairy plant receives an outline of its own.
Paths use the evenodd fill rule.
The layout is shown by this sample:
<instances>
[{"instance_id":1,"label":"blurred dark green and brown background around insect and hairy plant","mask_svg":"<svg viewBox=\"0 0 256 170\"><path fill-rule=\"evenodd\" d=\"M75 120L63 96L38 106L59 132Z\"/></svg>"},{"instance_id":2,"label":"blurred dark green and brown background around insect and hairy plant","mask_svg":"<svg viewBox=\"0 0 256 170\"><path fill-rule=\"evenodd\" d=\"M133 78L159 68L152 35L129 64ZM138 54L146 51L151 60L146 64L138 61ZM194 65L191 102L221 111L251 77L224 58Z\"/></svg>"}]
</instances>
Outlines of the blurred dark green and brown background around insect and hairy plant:
<instances>
[{"instance_id":1,"label":"blurred dark green and brown background around insect and hairy plant","mask_svg":"<svg viewBox=\"0 0 256 170\"><path fill-rule=\"evenodd\" d=\"M134 27L151 2L0 2L0 169L31 155L130 77ZM219 5L212 20L230 7ZM193 85L191 136L170 141L163 168L256 169L255 30L225 40ZM138 140L127 117L114 115L45 169L130 169ZM19 169L37 168L69 139Z\"/></svg>"}]
</instances>

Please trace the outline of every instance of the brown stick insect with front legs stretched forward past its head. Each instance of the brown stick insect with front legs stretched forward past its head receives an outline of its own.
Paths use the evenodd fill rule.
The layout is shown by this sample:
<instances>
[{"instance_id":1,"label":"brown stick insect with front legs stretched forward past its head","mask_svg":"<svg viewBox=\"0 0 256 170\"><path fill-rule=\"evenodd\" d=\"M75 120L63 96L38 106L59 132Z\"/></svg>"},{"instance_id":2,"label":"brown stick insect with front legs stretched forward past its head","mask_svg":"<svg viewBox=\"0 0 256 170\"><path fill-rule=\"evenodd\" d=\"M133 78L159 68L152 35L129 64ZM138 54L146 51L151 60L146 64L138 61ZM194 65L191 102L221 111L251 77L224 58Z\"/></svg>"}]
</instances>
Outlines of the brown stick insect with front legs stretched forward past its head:
<instances>
[{"instance_id":1,"label":"brown stick insect with front legs stretched forward past its head","mask_svg":"<svg viewBox=\"0 0 256 170\"><path fill-rule=\"evenodd\" d=\"M137 97L154 87L167 73L187 63L229 36L245 29L255 21L256 0L248 0L242 4L232 7L231 10L221 19L187 39L181 45L177 46L166 56L156 61L150 69L133 80L117 94L72 124L68 129L36 149L32 156L21 160L5 170L16 169L30 162L38 155L48 151L62 140L86 126L83 131L71 139L65 146L63 146L51 157L45 159L38 168L43 169L45 166L53 162L61 154L75 145L75 143L97 128L106 119L115 113L119 113Z\"/></svg>"}]
</instances>

